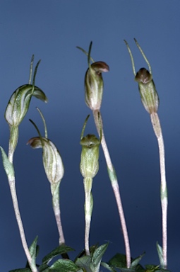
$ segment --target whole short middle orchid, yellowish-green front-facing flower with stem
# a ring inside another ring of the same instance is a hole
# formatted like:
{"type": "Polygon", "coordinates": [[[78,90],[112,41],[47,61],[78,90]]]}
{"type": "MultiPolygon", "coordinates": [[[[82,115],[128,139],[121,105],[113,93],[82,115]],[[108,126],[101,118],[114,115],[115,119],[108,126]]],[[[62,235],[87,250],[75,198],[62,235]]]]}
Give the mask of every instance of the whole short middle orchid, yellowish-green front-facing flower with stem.
{"type": "MultiPolygon", "coordinates": [[[[83,176],[85,190],[85,254],[90,256],[89,236],[90,222],[92,217],[93,198],[92,198],[92,180],[99,170],[99,149],[100,140],[95,135],[88,134],[84,136],[86,123],[90,115],[85,119],[83,130],[80,136],[80,145],[82,152],[80,156],[80,172],[83,176]]],[[[100,120],[100,118],[99,118],[100,120]]],[[[101,126],[101,125],[100,125],[101,126]]]]}

